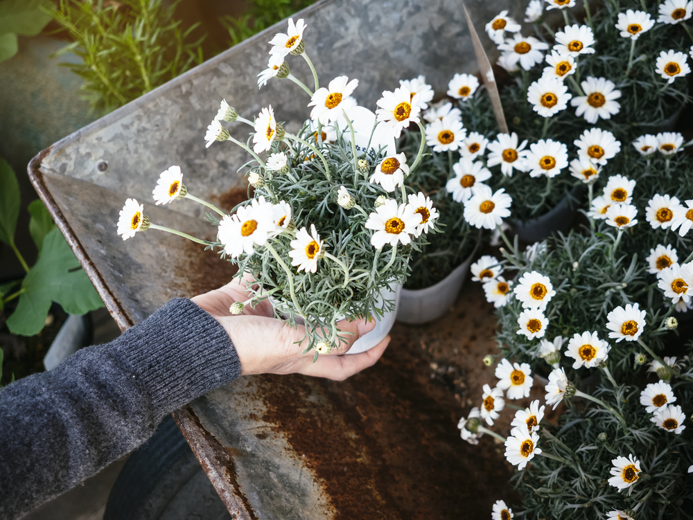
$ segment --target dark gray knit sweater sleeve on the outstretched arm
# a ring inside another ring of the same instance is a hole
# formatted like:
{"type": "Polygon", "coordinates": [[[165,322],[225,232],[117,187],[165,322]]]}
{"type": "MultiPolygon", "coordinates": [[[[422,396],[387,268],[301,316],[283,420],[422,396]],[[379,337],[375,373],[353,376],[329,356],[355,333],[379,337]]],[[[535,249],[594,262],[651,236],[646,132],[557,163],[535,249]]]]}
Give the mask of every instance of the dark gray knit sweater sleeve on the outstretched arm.
{"type": "Polygon", "coordinates": [[[98,473],[166,414],[240,376],[229,335],[175,298],[105,345],[0,391],[0,519],[98,473]]]}

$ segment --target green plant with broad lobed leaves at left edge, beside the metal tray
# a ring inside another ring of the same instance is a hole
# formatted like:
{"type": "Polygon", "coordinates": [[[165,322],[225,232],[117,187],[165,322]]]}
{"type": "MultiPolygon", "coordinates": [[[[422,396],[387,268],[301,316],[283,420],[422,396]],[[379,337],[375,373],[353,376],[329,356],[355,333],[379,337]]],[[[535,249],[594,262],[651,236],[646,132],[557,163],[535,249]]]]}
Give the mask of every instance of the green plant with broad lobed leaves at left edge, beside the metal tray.
{"type": "Polygon", "coordinates": [[[15,172],[0,159],[0,240],[12,248],[26,271],[19,289],[19,281],[0,285],[0,312],[8,302],[19,298],[17,308],[7,319],[8,328],[13,334],[32,336],[44,328],[54,301],[69,314],[85,314],[102,307],[103,303],[38,199],[28,207],[31,214],[28,231],[39,250],[39,257],[33,267],[28,267],[15,245],[19,200],[15,172]]]}

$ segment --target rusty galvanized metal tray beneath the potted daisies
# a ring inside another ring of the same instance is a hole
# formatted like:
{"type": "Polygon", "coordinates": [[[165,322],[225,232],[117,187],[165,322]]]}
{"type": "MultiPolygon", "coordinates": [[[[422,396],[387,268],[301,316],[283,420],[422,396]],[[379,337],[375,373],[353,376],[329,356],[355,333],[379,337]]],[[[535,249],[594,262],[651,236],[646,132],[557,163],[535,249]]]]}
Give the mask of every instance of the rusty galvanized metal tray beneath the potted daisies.
{"type": "MultiPolygon", "coordinates": [[[[479,28],[502,8],[522,18],[519,4],[502,0],[468,8],[479,28]]],[[[457,0],[323,0],[300,16],[322,82],[342,73],[358,78],[355,95],[365,106],[374,107],[380,92],[401,78],[423,73],[443,92],[454,72],[476,68],[457,0]]],[[[222,143],[205,149],[204,129],[221,98],[249,118],[272,103],[289,128],[306,118],[307,98],[290,82],[256,87],[266,42],[279,30],[285,25],[64,138],[30,163],[35,188],[122,330],[173,296],[193,296],[231,278],[227,262],[173,235],[148,232],[123,242],[116,222],[125,198],[135,197],[152,222],[213,235],[200,206],[155,206],[151,191],[159,172],[179,164],[193,195],[227,209],[243,199],[245,179],[236,170],[247,156],[222,143]]],[[[300,58],[290,64],[292,73],[309,77],[300,58]]],[[[247,136],[242,125],[234,132],[247,136]]],[[[416,339],[422,331],[448,334],[441,345],[453,349],[460,325],[446,319],[422,329],[396,325],[385,359],[348,382],[243,378],[175,418],[234,518],[487,514],[490,503],[480,496],[500,485],[493,479],[500,469],[482,468],[479,452],[461,446],[455,388],[430,379],[430,355],[416,339]]]]}

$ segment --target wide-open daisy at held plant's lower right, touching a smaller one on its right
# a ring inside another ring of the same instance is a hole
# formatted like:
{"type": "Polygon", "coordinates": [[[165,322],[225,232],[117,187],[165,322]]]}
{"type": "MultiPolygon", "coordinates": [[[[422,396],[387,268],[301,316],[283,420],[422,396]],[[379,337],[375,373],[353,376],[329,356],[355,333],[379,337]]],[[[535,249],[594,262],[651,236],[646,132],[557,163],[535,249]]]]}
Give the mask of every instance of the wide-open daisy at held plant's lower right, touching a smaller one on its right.
{"type": "Polygon", "coordinates": [[[416,236],[416,227],[421,224],[421,215],[414,213],[409,204],[397,206],[397,201],[387,199],[368,216],[365,228],[375,231],[371,237],[371,245],[383,249],[385,244],[396,246],[401,242],[406,246],[411,242],[410,235],[416,236]]]}

